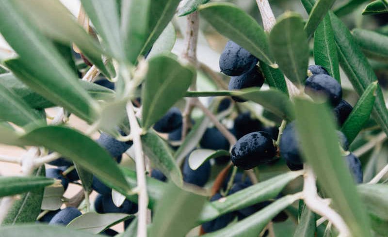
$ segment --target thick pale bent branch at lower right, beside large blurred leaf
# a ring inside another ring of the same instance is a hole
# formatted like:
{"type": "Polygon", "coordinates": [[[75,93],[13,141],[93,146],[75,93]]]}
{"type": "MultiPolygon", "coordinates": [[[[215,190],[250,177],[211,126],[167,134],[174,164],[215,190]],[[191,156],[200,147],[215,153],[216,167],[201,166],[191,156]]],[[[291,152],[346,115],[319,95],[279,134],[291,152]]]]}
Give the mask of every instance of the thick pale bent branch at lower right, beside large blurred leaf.
{"type": "Polygon", "coordinates": [[[328,206],[317,193],[315,175],[312,169],[305,165],[306,174],[304,175],[303,194],[306,206],[312,211],[318,213],[322,217],[333,223],[339,230],[340,236],[350,236],[350,231],[342,217],[331,207],[328,206]]]}

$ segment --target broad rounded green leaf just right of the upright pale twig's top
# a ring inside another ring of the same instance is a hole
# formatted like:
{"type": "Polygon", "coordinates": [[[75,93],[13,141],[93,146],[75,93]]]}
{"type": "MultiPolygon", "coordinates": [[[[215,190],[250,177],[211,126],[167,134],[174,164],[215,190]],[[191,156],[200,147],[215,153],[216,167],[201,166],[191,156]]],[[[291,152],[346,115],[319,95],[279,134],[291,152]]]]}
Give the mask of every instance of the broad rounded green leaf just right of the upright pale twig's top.
{"type": "Polygon", "coordinates": [[[183,66],[169,56],[162,55],[149,60],[142,91],[144,129],[162,118],[184,96],[194,76],[195,71],[191,66],[183,66]]]}

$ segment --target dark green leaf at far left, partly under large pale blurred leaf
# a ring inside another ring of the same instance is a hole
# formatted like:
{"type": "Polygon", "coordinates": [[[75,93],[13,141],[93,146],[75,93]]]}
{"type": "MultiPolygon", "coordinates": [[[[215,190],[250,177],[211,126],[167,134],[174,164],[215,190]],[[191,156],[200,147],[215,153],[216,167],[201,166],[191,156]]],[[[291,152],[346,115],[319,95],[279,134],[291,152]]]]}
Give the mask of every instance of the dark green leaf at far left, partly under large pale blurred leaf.
{"type": "MultiPolygon", "coordinates": [[[[48,46],[45,45],[45,47],[48,46]]],[[[42,61],[42,59],[43,56],[35,60],[42,61]]],[[[69,112],[86,121],[90,122],[96,119],[98,104],[81,88],[79,81],[71,78],[72,75],[61,76],[53,69],[54,67],[63,67],[65,62],[62,65],[58,63],[55,66],[52,65],[51,69],[46,69],[46,66],[50,64],[48,60],[43,60],[47,64],[42,65],[40,71],[38,71],[39,67],[31,63],[32,61],[25,62],[22,58],[6,60],[4,63],[24,84],[50,102],[65,107],[69,112]]],[[[54,61],[51,62],[54,63],[54,61]]],[[[60,71],[63,70],[60,69],[60,71]]]]}

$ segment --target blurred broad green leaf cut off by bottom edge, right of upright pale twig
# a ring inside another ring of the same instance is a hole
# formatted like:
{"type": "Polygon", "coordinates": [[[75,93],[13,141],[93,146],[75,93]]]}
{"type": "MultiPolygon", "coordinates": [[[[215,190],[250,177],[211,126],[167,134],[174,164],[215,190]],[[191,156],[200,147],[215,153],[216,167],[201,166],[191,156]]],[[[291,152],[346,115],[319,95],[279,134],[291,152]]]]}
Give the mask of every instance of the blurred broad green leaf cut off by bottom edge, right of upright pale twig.
{"type": "Polygon", "coordinates": [[[195,226],[205,201],[206,197],[183,191],[170,183],[156,206],[150,236],[186,236],[195,226]]]}

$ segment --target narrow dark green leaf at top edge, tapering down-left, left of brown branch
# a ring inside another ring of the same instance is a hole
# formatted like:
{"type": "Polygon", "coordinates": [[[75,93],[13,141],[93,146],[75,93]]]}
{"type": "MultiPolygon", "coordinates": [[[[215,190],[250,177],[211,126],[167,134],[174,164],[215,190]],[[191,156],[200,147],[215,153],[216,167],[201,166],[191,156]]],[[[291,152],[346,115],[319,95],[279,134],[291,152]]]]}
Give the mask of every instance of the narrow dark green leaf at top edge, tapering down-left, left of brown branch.
{"type": "Polygon", "coordinates": [[[158,0],[150,4],[150,14],[148,19],[148,37],[144,44],[141,55],[145,55],[159,38],[177,10],[180,0],[158,0]]]}

